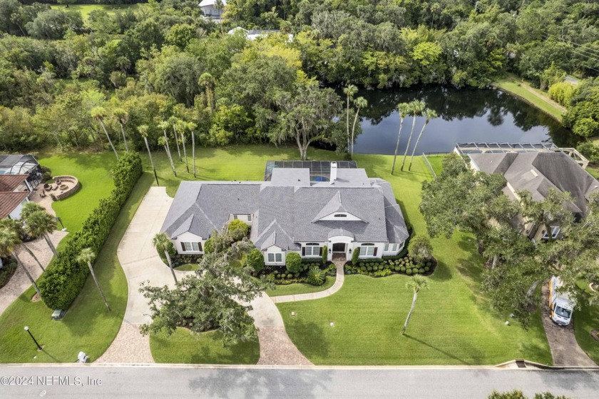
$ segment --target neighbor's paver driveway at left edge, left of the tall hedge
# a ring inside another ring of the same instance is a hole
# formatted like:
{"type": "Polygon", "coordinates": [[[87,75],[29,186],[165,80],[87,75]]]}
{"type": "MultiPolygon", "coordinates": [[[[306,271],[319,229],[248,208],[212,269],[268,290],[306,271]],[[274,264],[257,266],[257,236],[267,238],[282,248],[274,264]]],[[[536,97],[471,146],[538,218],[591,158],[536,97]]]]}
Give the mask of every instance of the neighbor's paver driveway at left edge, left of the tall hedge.
{"type": "MultiPolygon", "coordinates": [[[[50,235],[50,241],[54,244],[54,246],[58,246],[58,243],[66,236],[66,231],[54,231],[50,235]]],[[[36,257],[39,259],[40,263],[44,268],[48,266],[48,263],[53,258],[52,251],[46,240],[43,238],[37,238],[34,241],[30,241],[25,244],[31,252],[33,252],[36,257]]],[[[16,298],[19,298],[22,293],[24,293],[27,288],[31,287],[31,281],[25,274],[23,268],[25,267],[27,271],[31,274],[35,280],[41,276],[41,268],[34,260],[34,258],[29,255],[23,248],[19,248],[16,251],[16,255],[19,256],[23,265],[17,266],[14,275],[11,277],[10,281],[6,283],[6,286],[0,288],[0,314],[4,313],[4,310],[9,307],[11,303],[13,303],[16,298]]],[[[49,311],[49,310],[48,310],[49,311]]]]}

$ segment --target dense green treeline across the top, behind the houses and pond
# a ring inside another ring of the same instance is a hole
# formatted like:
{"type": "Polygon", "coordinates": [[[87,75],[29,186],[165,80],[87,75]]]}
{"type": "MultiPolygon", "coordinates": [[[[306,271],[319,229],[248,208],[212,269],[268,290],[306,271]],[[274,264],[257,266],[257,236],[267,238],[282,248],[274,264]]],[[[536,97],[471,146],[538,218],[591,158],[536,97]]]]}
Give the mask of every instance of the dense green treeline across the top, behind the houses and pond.
{"type": "Polygon", "coordinates": [[[103,148],[102,122],[138,149],[148,126],[154,148],[179,130],[202,145],[292,140],[303,156],[324,140],[343,151],[340,125],[356,107],[323,84],[484,87],[508,71],[551,86],[575,133],[599,134],[597,79],[563,83],[598,74],[595,1],[230,0],[225,11],[215,24],[198,1],[150,1],[83,21],[0,0],[0,148],[103,148]],[[235,26],[283,34],[249,41],[227,34],[235,26]]]}

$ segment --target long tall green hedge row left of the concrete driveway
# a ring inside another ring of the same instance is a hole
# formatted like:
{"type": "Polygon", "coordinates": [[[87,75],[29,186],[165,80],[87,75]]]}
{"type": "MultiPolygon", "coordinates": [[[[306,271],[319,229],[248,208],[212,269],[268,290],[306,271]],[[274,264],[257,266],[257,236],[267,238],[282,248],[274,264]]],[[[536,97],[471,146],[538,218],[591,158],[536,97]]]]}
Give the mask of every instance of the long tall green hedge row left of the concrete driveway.
{"type": "Polygon", "coordinates": [[[115,187],[111,195],[100,200],[39,280],[41,298],[48,308],[67,309],[77,298],[89,274],[88,266],[78,263],[77,256],[83,248],[100,251],[142,171],[138,153],[123,154],[118,160],[112,170],[115,187]]]}

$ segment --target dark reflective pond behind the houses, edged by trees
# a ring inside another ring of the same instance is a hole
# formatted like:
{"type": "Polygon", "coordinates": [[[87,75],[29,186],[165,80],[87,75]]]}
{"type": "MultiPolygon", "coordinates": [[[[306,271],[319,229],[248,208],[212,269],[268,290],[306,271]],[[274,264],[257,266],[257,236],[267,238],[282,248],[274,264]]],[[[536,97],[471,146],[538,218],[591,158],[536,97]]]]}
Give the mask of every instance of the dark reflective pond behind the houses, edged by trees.
{"type": "MultiPolygon", "coordinates": [[[[362,133],[354,153],[392,154],[395,150],[399,114],[397,104],[421,99],[439,117],[432,120],[416,153],[449,152],[456,143],[499,142],[541,143],[573,146],[572,133],[550,116],[510,94],[498,90],[454,89],[448,86],[419,86],[409,89],[361,90],[368,100],[361,112],[362,133]]],[[[399,153],[408,143],[412,118],[404,120],[399,153]]],[[[424,118],[416,118],[412,150],[424,118]]]]}

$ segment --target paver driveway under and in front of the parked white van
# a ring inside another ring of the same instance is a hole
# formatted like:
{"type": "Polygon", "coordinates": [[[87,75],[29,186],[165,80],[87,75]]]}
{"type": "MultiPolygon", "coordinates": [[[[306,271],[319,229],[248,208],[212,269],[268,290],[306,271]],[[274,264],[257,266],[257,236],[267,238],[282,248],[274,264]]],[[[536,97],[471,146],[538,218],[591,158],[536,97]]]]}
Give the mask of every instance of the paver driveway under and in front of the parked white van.
{"type": "Polygon", "coordinates": [[[574,318],[570,325],[562,327],[553,323],[550,318],[549,303],[546,298],[549,298],[549,284],[543,284],[543,308],[541,308],[541,319],[543,327],[551,349],[553,357],[553,365],[575,365],[575,366],[595,366],[593,360],[590,360],[588,355],[578,346],[574,336],[574,326],[576,323],[576,310],[574,310],[574,318]]]}

